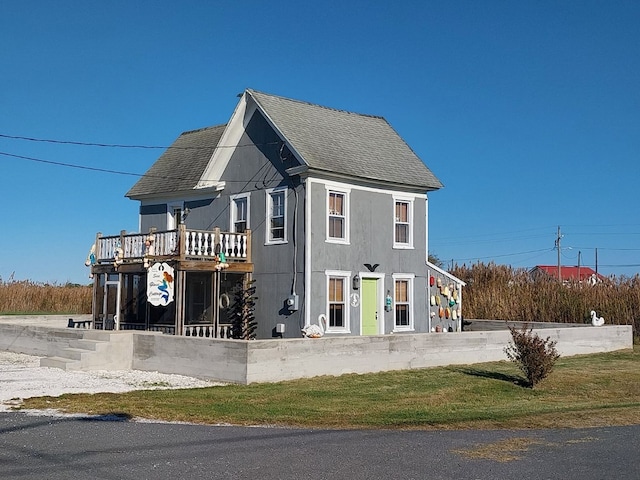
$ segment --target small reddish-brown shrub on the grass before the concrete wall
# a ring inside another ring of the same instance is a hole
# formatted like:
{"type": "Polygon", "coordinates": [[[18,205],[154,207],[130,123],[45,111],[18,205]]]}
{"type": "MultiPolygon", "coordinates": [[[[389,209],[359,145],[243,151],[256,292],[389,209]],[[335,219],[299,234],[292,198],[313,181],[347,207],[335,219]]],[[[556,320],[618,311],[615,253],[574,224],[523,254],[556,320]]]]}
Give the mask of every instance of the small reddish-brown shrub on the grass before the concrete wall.
{"type": "Polygon", "coordinates": [[[504,349],[507,358],[520,367],[529,386],[534,388],[551,373],[560,358],[557,342],[550,337],[540,338],[527,323],[520,329],[509,327],[509,331],[513,342],[504,349]]]}

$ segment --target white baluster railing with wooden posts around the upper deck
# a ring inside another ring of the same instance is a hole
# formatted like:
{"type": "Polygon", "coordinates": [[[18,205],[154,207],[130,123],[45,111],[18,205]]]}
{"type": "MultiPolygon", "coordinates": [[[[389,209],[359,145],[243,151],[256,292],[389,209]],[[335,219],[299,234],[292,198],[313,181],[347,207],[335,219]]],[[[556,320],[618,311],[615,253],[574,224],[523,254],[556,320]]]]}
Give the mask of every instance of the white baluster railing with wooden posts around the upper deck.
{"type": "Polygon", "coordinates": [[[220,260],[251,262],[251,231],[243,233],[188,229],[97,235],[96,263],[133,263],[144,259],[220,260]]]}

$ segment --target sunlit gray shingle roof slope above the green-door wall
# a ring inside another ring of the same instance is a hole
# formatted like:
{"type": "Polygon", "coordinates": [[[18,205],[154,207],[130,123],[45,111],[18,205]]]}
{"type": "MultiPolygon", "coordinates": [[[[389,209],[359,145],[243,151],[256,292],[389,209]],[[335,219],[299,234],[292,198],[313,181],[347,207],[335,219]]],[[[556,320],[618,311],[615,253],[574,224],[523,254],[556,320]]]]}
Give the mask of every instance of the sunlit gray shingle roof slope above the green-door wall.
{"type": "Polygon", "coordinates": [[[311,169],[390,185],[443,185],[382,117],[247,90],[311,169]]]}

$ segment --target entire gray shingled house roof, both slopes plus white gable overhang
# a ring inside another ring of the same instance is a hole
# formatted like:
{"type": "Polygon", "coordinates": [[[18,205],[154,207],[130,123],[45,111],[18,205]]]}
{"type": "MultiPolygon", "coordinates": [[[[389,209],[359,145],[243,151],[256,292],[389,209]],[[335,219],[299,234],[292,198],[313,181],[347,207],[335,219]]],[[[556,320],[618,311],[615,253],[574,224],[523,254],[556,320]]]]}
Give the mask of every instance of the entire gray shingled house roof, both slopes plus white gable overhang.
{"type": "Polygon", "coordinates": [[[417,192],[442,187],[384,118],[247,89],[226,125],[184,132],[126,196],[220,188],[234,147],[257,112],[297,159],[291,174],[308,171],[417,192]]]}

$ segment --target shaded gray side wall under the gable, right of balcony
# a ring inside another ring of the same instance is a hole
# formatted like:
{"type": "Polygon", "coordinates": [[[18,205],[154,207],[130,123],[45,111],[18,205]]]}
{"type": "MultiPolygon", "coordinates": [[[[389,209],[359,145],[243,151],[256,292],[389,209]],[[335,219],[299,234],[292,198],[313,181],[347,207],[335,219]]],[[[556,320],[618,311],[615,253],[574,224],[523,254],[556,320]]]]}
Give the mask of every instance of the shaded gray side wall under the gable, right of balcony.
{"type": "MultiPolygon", "coordinates": [[[[249,228],[251,229],[251,259],[254,264],[256,286],[256,319],[258,338],[272,338],[278,323],[285,324],[284,338],[300,337],[304,325],[304,185],[298,178],[290,178],[285,173],[286,160],[280,157],[282,140],[266,120],[259,114],[253,115],[246,126],[246,132],[231,156],[221,178],[225,182],[220,201],[227,205],[222,215],[225,226],[229,223],[229,203],[231,195],[249,194],[249,228]],[[286,198],[286,243],[269,244],[267,231],[267,189],[283,188],[286,198]],[[295,191],[294,191],[295,190],[295,191]],[[296,201],[296,193],[298,199],[296,201]],[[296,228],[294,234],[293,229],[296,228]],[[294,252],[297,250],[297,264],[294,252]],[[287,297],[295,293],[299,296],[299,309],[285,308],[287,297]]],[[[215,203],[215,202],[214,202],[215,203]]]]}

